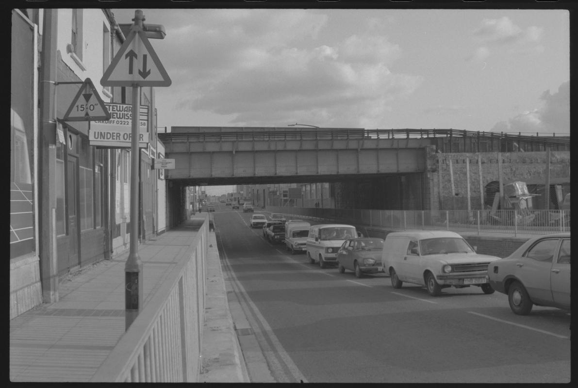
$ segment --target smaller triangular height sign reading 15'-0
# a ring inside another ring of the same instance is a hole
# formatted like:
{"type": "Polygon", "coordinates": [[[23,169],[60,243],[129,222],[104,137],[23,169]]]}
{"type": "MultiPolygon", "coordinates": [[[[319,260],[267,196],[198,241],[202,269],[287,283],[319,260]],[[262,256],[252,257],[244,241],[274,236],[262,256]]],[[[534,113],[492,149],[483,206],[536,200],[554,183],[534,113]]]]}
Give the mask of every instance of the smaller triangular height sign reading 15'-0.
{"type": "Polygon", "coordinates": [[[110,120],[110,112],[90,78],[87,78],[66,111],[64,121],[92,120],[110,120]]]}

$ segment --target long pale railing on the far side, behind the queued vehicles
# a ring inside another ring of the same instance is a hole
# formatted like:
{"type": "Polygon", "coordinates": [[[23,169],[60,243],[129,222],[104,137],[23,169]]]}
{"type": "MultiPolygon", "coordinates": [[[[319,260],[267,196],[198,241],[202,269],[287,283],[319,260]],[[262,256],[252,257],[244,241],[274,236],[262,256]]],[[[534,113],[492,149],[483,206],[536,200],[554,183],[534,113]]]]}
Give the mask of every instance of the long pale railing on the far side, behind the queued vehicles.
{"type": "Polygon", "coordinates": [[[454,232],[546,234],[570,232],[569,210],[365,210],[272,207],[267,210],[392,230],[444,229],[454,232]]]}

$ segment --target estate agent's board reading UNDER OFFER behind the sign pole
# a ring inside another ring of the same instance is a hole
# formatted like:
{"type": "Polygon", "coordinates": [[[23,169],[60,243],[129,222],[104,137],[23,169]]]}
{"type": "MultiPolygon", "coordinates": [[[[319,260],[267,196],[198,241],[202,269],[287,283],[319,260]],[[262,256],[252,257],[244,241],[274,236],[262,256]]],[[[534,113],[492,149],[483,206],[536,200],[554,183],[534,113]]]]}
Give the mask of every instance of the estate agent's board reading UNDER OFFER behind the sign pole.
{"type": "MultiPolygon", "coordinates": [[[[88,140],[91,146],[131,148],[132,105],[105,102],[110,120],[91,121],[88,140]]],[[[149,107],[140,106],[139,148],[149,144],[149,107]]]]}

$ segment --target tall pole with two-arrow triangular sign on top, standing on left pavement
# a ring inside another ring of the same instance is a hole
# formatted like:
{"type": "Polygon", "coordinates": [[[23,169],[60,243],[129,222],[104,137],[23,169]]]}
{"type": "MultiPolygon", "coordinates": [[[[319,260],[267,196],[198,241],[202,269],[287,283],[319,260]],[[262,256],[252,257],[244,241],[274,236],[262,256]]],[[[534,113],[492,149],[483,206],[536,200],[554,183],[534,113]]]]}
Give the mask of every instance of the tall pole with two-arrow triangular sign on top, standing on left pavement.
{"type": "MultiPolygon", "coordinates": [[[[131,245],[125,271],[125,330],[143,303],[143,264],[139,257],[139,106],[140,88],[169,86],[171,79],[143,31],[142,10],[135,10],[131,32],[101,79],[102,86],[132,87],[131,126],[131,245]]],[[[108,119],[107,119],[108,120],[108,119]]]]}

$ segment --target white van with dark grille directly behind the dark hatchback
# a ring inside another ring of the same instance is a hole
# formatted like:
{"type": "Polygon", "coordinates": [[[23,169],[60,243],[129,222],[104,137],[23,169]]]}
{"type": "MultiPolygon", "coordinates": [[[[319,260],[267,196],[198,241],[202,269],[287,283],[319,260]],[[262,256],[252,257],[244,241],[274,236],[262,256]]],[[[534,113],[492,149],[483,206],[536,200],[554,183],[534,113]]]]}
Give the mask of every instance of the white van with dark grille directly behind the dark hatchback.
{"type": "Polygon", "coordinates": [[[337,251],[347,238],[360,237],[355,226],[340,223],[321,223],[309,228],[307,257],[311,264],[319,262],[321,268],[337,264],[337,251]]]}

